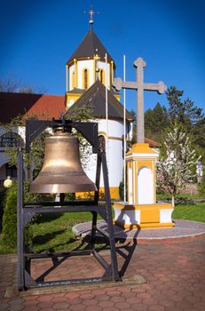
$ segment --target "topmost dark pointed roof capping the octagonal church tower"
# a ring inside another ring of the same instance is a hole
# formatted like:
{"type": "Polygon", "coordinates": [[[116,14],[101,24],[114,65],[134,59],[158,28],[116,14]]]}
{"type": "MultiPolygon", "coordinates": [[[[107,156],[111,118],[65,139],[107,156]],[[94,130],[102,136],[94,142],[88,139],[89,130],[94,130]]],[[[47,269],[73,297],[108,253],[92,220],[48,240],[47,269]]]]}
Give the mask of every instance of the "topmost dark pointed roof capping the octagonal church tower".
{"type": "MultiPolygon", "coordinates": [[[[107,60],[113,60],[111,55],[106,51],[105,46],[99,41],[99,37],[95,34],[92,28],[89,29],[82,43],[76,48],[75,52],[67,60],[69,65],[74,59],[85,59],[98,54],[104,58],[107,55],[107,60]]],[[[113,60],[114,61],[114,60],[113,60]]]]}

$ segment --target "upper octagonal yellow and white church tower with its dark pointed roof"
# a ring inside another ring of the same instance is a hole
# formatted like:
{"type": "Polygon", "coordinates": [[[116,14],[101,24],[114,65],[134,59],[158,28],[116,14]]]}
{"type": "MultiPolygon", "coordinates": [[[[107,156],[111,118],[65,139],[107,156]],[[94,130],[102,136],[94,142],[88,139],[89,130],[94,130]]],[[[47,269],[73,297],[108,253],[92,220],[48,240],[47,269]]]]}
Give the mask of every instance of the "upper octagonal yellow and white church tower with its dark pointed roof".
{"type": "MultiPolygon", "coordinates": [[[[82,43],[79,44],[75,52],[67,60],[67,108],[70,108],[97,80],[105,86],[107,83],[108,90],[111,90],[114,81],[114,71],[115,64],[113,58],[106,51],[105,46],[101,44],[99,37],[91,26],[82,43]]],[[[120,100],[120,94],[116,93],[115,97],[120,100]]]]}

